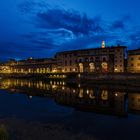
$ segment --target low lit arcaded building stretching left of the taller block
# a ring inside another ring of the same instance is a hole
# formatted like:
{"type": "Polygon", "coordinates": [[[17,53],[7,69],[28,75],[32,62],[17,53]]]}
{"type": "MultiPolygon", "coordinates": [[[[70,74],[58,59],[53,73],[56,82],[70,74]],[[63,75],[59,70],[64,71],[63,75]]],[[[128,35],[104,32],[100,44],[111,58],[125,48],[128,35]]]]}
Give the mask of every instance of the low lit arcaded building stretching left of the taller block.
{"type": "Polygon", "coordinates": [[[5,66],[1,66],[1,73],[21,73],[21,74],[45,74],[57,71],[55,59],[32,59],[10,60],[5,66]]]}

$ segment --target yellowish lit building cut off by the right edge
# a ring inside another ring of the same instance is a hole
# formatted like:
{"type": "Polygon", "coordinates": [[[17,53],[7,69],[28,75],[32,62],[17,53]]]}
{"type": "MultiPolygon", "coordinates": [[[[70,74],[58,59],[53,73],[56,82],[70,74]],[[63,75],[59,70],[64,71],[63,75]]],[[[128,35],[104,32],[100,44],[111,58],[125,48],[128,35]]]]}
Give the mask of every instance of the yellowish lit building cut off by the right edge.
{"type": "Polygon", "coordinates": [[[128,72],[140,72],[140,49],[128,51],[128,72]]]}

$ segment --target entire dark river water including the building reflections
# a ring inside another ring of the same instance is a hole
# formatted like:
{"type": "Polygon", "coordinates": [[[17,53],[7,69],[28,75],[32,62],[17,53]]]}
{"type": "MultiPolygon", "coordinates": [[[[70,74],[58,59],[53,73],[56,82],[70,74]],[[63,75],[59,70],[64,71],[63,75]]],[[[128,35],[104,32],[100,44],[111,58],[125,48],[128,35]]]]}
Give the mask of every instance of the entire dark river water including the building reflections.
{"type": "Polygon", "coordinates": [[[139,87],[0,81],[0,140],[135,140],[139,133],[139,87]]]}

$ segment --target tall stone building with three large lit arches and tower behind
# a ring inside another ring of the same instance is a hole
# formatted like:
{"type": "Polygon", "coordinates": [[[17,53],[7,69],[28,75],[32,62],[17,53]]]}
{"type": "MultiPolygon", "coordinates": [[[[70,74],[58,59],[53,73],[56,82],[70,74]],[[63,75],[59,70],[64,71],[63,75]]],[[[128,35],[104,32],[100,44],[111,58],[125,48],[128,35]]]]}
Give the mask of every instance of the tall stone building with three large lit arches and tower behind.
{"type": "Polygon", "coordinates": [[[124,46],[83,49],[56,54],[63,72],[124,72],[124,46]]]}

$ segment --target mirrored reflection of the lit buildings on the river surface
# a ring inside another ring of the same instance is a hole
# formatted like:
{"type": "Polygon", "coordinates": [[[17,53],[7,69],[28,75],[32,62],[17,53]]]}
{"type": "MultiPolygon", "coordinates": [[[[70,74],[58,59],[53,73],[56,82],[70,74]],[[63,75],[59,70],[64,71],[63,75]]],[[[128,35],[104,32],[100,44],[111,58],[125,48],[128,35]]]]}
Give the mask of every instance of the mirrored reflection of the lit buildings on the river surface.
{"type": "Polygon", "coordinates": [[[3,79],[0,89],[10,93],[24,93],[33,96],[48,96],[59,105],[76,110],[102,114],[127,116],[128,112],[140,113],[140,92],[110,86],[67,85],[64,81],[38,81],[25,79],[3,79]]]}

